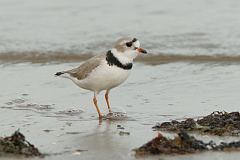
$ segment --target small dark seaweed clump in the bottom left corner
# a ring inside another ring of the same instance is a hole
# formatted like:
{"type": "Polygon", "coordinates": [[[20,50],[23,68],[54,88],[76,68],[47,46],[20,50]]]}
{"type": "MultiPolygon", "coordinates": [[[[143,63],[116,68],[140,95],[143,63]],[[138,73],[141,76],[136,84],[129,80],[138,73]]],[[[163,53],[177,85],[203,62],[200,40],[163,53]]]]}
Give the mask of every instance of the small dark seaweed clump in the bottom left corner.
{"type": "Polygon", "coordinates": [[[6,154],[43,157],[43,154],[34,145],[26,141],[25,136],[19,131],[15,131],[9,137],[0,137],[0,156],[6,154]]]}

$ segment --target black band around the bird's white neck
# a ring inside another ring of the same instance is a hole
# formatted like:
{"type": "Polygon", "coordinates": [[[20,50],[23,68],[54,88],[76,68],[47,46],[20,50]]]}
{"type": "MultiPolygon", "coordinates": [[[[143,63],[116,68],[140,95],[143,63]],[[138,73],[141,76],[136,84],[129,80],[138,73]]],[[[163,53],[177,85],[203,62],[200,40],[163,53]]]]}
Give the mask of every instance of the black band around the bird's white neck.
{"type": "Polygon", "coordinates": [[[107,52],[106,60],[109,66],[115,65],[119,68],[125,69],[125,70],[130,70],[132,69],[133,64],[132,63],[127,63],[127,64],[122,64],[117,57],[115,57],[111,50],[107,52]]]}

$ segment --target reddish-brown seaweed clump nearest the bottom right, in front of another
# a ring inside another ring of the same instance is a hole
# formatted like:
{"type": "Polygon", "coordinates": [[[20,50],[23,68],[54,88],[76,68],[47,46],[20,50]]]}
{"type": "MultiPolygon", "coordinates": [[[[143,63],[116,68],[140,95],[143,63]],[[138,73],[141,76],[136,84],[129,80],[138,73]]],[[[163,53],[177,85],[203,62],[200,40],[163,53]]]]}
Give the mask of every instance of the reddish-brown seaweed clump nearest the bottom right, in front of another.
{"type": "Polygon", "coordinates": [[[185,131],[180,131],[174,139],[168,139],[162,134],[135,149],[136,156],[147,154],[189,154],[203,151],[237,151],[240,150],[240,141],[231,143],[220,143],[216,145],[213,141],[204,143],[185,131]]]}

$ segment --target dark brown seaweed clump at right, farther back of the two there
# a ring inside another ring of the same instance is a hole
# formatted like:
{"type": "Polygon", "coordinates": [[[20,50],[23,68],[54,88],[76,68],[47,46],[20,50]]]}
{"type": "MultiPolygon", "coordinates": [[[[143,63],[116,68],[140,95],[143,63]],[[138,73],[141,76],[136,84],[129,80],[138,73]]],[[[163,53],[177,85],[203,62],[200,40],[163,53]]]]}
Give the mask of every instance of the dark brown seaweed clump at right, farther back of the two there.
{"type": "Polygon", "coordinates": [[[185,121],[163,122],[153,127],[156,130],[177,132],[197,131],[201,134],[218,136],[239,136],[240,135],[240,113],[239,112],[213,112],[201,119],[188,118],[185,121]]]}

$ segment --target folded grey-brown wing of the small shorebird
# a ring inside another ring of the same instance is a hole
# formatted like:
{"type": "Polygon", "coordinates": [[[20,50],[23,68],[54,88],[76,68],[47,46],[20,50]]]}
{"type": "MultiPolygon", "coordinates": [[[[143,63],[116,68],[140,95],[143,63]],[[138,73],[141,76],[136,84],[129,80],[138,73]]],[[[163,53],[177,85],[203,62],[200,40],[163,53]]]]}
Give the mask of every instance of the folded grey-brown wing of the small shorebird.
{"type": "Polygon", "coordinates": [[[65,71],[65,73],[82,80],[86,78],[95,68],[97,68],[105,58],[105,54],[94,56],[81,64],[78,68],[65,71]]]}

